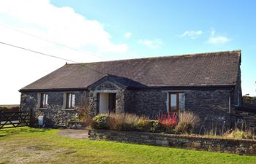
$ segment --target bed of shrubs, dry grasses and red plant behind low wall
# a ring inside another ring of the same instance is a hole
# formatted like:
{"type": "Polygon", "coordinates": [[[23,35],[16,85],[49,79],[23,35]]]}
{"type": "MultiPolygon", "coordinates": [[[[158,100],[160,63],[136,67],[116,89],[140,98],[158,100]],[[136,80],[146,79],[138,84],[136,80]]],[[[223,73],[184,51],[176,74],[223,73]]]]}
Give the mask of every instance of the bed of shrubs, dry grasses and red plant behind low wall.
{"type": "Polygon", "coordinates": [[[135,114],[99,114],[93,118],[92,128],[121,131],[192,133],[198,120],[191,112],[175,114],[160,114],[157,120],[148,117],[138,117],[135,114]],[[191,117],[192,119],[184,117],[191,117]]]}

